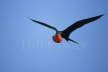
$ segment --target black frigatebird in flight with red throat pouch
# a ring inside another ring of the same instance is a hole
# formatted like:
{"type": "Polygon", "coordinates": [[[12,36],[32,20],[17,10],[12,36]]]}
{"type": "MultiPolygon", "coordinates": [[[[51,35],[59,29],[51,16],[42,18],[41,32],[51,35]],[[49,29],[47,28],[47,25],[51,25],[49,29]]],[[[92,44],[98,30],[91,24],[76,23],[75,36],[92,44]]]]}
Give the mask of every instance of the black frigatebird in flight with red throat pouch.
{"type": "Polygon", "coordinates": [[[66,41],[72,41],[73,43],[79,44],[78,42],[76,42],[76,41],[74,41],[74,40],[72,40],[72,39],[69,38],[70,34],[74,30],[76,30],[76,29],[84,26],[85,24],[88,24],[90,22],[93,22],[93,21],[97,20],[97,19],[101,18],[102,16],[103,15],[98,15],[98,16],[95,16],[95,17],[79,20],[79,21],[75,22],[74,24],[70,25],[69,27],[67,27],[63,31],[59,31],[55,27],[53,27],[51,25],[48,25],[46,23],[43,23],[43,22],[40,22],[40,21],[37,21],[37,20],[34,20],[34,19],[30,19],[30,20],[32,20],[35,23],[41,24],[43,26],[46,26],[46,27],[48,27],[48,28],[53,29],[54,31],[56,31],[56,34],[52,37],[53,41],[56,42],[56,43],[61,43],[62,40],[65,39],[66,41]]]}

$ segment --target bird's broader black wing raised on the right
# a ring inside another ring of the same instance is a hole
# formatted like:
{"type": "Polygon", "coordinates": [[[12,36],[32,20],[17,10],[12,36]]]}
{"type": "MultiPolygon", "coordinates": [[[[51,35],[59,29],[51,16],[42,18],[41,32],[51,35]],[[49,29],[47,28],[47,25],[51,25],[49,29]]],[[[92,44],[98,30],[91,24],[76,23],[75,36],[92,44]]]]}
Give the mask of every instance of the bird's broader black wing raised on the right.
{"type": "Polygon", "coordinates": [[[68,28],[66,28],[63,31],[63,37],[68,38],[70,33],[73,32],[74,30],[82,27],[85,24],[88,24],[89,22],[97,20],[97,19],[99,19],[102,16],[103,15],[99,15],[99,16],[95,16],[95,17],[91,17],[91,18],[88,18],[88,19],[83,19],[83,20],[77,21],[76,23],[74,23],[73,25],[69,26],[68,28]]]}

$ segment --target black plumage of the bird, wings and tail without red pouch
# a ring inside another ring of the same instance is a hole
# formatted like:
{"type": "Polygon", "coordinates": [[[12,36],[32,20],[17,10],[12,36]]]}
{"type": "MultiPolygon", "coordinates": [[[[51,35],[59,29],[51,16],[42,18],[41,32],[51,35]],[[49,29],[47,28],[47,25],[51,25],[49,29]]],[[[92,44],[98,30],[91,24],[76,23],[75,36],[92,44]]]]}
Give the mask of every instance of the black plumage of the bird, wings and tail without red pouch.
{"type": "Polygon", "coordinates": [[[88,23],[90,23],[90,22],[93,22],[93,21],[97,20],[97,19],[99,19],[99,18],[102,17],[102,16],[103,16],[103,15],[98,15],[98,16],[95,16],[95,17],[91,17],[91,18],[79,20],[79,21],[75,22],[74,24],[72,24],[71,26],[69,26],[68,28],[66,28],[66,29],[63,30],[63,31],[58,31],[55,27],[50,26],[50,25],[48,25],[48,24],[46,24],[46,23],[43,23],[43,22],[40,22],[40,21],[36,21],[36,20],[34,20],[34,19],[31,19],[31,20],[32,20],[33,22],[36,22],[36,23],[38,23],[38,24],[44,25],[44,26],[46,26],[46,27],[48,27],[48,28],[50,28],[50,29],[55,30],[55,31],[56,31],[56,34],[57,34],[57,33],[60,33],[60,34],[62,35],[62,37],[63,37],[66,41],[72,41],[72,42],[78,44],[78,42],[76,42],[76,41],[74,41],[74,40],[72,40],[72,39],[69,38],[70,34],[71,34],[74,30],[76,30],[76,29],[78,29],[78,28],[84,26],[85,24],[88,24],[88,23]]]}

